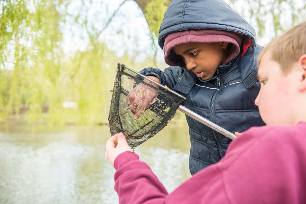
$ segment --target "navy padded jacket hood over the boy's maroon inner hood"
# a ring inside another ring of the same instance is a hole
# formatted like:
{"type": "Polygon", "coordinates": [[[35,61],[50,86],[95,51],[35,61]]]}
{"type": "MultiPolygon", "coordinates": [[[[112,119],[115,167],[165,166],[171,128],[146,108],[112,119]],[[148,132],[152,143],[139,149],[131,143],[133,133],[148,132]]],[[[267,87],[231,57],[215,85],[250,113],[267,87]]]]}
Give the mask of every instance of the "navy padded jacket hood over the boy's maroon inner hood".
{"type": "Polygon", "coordinates": [[[170,33],[194,29],[240,33],[256,45],[254,28],[222,0],[173,0],[159,28],[158,43],[163,49],[170,33]]]}

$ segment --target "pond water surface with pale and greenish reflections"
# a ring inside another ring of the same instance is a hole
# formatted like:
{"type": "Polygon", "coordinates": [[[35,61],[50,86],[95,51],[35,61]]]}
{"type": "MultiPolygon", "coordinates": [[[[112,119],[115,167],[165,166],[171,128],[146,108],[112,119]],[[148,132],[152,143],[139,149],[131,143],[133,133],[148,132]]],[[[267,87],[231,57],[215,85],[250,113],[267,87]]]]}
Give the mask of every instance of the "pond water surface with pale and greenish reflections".
{"type": "MultiPolygon", "coordinates": [[[[190,177],[188,128],[171,129],[135,150],[169,192],[190,177]]],[[[108,127],[2,129],[0,203],[118,203],[105,158],[109,136],[108,127]]]]}

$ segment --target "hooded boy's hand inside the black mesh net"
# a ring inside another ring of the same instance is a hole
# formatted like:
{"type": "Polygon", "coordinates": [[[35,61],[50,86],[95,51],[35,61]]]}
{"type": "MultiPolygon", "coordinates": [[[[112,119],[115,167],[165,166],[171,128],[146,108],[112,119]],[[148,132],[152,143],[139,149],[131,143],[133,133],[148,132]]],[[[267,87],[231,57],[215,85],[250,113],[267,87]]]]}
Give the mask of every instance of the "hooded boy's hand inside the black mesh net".
{"type": "MultiPolygon", "coordinates": [[[[159,82],[159,79],[155,76],[148,77],[159,82]]],[[[158,85],[150,82],[149,80],[145,79],[144,81],[146,83],[151,83],[155,87],[158,87],[158,85]]],[[[127,95],[126,105],[130,106],[135,120],[139,118],[140,115],[152,105],[152,103],[154,103],[154,99],[156,98],[157,94],[158,92],[153,88],[140,83],[127,95]],[[140,105],[140,108],[137,110],[138,105],[140,105]]]]}

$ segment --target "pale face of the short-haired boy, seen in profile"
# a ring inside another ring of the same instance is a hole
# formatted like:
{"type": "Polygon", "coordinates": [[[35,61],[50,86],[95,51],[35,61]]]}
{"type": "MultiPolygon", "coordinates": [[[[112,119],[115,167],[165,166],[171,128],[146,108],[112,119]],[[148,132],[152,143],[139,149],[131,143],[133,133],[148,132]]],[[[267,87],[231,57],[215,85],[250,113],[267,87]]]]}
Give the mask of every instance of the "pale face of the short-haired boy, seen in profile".
{"type": "Polygon", "coordinates": [[[301,72],[295,67],[284,75],[280,65],[272,60],[270,51],[263,55],[258,69],[260,91],[255,104],[267,125],[296,123],[295,102],[299,94],[300,77],[301,72]]]}

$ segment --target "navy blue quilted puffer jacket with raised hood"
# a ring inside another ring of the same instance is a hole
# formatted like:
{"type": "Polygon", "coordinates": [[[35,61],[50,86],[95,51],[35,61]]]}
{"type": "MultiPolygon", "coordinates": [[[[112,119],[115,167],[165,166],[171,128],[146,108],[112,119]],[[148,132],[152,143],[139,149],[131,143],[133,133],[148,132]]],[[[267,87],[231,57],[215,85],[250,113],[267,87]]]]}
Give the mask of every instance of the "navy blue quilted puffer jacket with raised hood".
{"type": "MultiPolygon", "coordinates": [[[[220,65],[215,75],[205,81],[181,67],[168,67],[163,72],[146,68],[141,73],[157,76],[162,84],[187,98],[186,108],[230,132],[264,125],[254,104],[259,92],[256,59],[263,49],[256,45],[254,28],[221,0],[174,0],[160,26],[159,46],[163,48],[168,34],[189,29],[243,34],[241,52],[228,64],[220,65]]],[[[231,140],[188,116],[186,119],[191,142],[189,169],[194,174],[218,162],[231,140]]]]}

